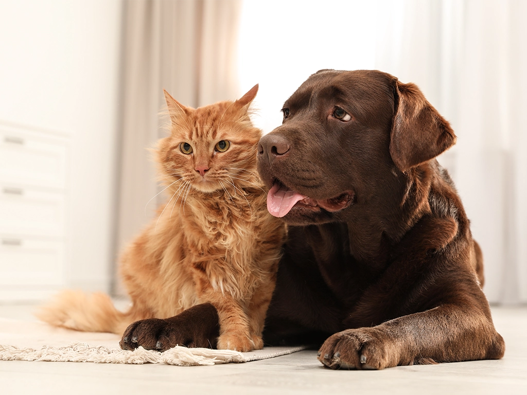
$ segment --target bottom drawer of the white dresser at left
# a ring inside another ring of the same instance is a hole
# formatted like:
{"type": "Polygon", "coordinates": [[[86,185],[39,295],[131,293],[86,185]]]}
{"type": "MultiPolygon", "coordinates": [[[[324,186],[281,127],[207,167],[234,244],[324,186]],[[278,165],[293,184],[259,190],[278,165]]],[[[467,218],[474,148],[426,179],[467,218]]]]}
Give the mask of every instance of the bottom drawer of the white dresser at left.
{"type": "Polygon", "coordinates": [[[0,284],[61,285],[65,243],[0,235],[0,284]]]}

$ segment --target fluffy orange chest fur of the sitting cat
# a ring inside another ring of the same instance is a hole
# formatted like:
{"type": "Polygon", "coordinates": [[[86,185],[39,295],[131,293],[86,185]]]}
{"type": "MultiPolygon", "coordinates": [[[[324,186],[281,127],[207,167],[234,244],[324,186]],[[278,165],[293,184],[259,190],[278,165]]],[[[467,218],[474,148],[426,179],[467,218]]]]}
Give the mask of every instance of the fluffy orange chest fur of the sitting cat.
{"type": "Polygon", "coordinates": [[[181,226],[189,266],[207,273],[214,289],[245,299],[270,270],[258,260],[259,230],[269,216],[262,191],[188,199],[181,226]]]}

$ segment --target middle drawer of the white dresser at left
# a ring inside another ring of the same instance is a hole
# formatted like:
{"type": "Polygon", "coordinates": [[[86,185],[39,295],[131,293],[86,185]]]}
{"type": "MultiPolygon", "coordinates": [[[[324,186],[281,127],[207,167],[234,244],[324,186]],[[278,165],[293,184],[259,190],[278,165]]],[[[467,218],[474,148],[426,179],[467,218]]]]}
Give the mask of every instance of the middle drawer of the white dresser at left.
{"type": "Polygon", "coordinates": [[[64,236],[65,197],[0,183],[0,234],[64,236]]]}

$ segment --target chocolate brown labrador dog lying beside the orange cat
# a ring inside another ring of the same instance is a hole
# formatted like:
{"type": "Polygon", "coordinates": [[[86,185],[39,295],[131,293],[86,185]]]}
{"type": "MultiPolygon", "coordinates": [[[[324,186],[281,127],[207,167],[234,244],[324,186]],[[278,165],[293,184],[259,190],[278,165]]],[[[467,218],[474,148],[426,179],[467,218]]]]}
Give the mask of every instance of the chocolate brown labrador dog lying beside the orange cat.
{"type": "MultiPolygon", "coordinates": [[[[282,112],[258,147],[269,212],[289,224],[265,341],[320,340],[334,369],[501,358],[481,250],[434,159],[456,137],[417,86],[322,70],[282,112]]],[[[218,333],[210,304],[145,321],[123,348],[203,347],[218,333]]]]}

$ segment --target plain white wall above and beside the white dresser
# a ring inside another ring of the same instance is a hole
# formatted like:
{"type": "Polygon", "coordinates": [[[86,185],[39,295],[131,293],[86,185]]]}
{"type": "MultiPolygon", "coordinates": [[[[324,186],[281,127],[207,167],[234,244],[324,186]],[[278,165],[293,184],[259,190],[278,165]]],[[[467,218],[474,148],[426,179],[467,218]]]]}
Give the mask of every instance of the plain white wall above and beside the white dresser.
{"type": "Polygon", "coordinates": [[[0,120],[70,135],[69,285],[108,290],[121,0],[0,0],[0,120]]]}

